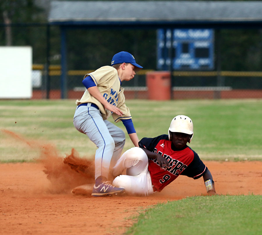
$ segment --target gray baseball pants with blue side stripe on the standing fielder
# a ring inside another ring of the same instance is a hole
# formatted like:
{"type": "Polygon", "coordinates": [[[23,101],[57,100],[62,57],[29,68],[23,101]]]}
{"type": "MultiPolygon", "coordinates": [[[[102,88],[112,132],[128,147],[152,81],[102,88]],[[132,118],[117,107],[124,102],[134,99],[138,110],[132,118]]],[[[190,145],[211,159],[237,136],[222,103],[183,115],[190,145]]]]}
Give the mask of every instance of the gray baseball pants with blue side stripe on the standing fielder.
{"type": "Polygon", "coordinates": [[[113,123],[103,120],[100,111],[91,103],[76,109],[73,123],[98,147],[95,152],[95,179],[99,176],[108,179],[109,169],[114,167],[123,150],[125,133],[113,123]]]}

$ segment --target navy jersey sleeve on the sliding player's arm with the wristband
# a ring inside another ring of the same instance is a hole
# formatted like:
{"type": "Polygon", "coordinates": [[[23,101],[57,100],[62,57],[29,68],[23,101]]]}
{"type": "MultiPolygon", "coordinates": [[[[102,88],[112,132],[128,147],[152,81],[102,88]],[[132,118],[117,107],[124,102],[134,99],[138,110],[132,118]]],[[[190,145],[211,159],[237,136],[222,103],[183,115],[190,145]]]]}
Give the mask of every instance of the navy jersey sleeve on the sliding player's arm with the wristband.
{"type": "Polygon", "coordinates": [[[189,164],[189,166],[187,166],[187,168],[181,173],[181,175],[188,176],[188,177],[191,177],[193,179],[198,179],[206,173],[208,168],[201,161],[198,154],[194,150],[192,150],[192,151],[194,152],[194,159],[189,164]]]}

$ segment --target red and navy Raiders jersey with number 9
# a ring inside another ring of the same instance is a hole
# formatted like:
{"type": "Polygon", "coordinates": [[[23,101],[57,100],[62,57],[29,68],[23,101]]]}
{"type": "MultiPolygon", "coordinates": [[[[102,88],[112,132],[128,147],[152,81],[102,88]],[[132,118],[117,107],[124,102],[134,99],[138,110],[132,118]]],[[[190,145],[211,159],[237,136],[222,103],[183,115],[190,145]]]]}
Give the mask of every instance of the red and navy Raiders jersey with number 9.
{"type": "Polygon", "coordinates": [[[179,175],[198,179],[208,169],[194,150],[187,145],[181,149],[177,149],[172,144],[172,141],[168,139],[168,135],[161,135],[155,138],[142,138],[139,141],[139,146],[140,148],[146,148],[151,152],[161,154],[169,162],[167,170],[162,170],[156,159],[148,159],[148,170],[152,185],[159,192],[179,175]]]}

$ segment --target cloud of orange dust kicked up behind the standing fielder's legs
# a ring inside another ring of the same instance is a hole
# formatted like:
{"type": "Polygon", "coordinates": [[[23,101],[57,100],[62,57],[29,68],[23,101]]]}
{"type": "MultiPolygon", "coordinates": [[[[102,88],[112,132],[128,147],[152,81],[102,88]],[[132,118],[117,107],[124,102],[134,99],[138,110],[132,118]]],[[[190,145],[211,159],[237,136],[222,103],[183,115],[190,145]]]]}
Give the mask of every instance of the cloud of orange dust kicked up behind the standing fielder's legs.
{"type": "Polygon", "coordinates": [[[82,174],[64,163],[64,157],[61,156],[54,145],[43,143],[43,141],[40,143],[39,141],[28,140],[6,129],[2,129],[1,131],[12,138],[22,141],[29,148],[39,150],[40,155],[36,157],[35,160],[43,166],[43,172],[50,181],[47,192],[52,194],[70,193],[73,188],[79,185],[94,183],[94,159],[88,160],[80,158],[75,149],[72,149],[70,155],[66,155],[74,159],[74,164],[76,165],[78,163],[80,165],[88,165],[89,172],[82,174]]]}

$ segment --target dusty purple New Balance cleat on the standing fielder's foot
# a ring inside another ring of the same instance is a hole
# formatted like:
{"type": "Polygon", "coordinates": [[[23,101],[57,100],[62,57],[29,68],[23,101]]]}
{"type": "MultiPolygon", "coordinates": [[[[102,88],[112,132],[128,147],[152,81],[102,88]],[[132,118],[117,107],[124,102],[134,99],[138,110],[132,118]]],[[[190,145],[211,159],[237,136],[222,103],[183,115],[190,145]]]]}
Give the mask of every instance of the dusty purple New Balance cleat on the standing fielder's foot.
{"type": "Polygon", "coordinates": [[[101,183],[98,186],[93,187],[92,196],[107,196],[112,194],[118,194],[124,192],[124,188],[118,188],[111,184],[110,181],[101,183]]]}

